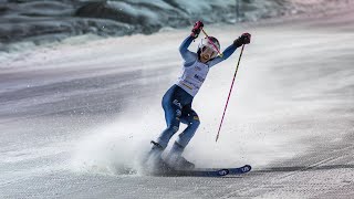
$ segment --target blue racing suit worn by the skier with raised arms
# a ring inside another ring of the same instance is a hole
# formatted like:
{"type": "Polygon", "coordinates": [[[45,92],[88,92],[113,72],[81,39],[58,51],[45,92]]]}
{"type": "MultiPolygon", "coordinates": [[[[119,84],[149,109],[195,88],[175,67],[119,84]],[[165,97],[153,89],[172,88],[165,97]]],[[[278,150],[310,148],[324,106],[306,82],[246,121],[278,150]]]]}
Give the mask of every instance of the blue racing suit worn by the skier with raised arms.
{"type": "MultiPolygon", "coordinates": [[[[173,153],[179,153],[179,154],[181,154],[184,148],[188,145],[189,140],[192,138],[192,136],[195,135],[200,124],[197,113],[191,108],[191,103],[192,103],[194,96],[198,92],[201,83],[204,82],[204,78],[206,77],[208,70],[211,66],[228,59],[237,49],[233,44],[231,44],[223,51],[222,57],[217,56],[214,60],[208,61],[207,63],[201,63],[199,61],[199,54],[190,52],[188,50],[188,46],[190,45],[192,40],[194,40],[192,36],[188,36],[187,39],[185,39],[185,41],[181,43],[179,48],[180,55],[185,61],[184,71],[188,70],[187,67],[191,67],[191,66],[195,66],[196,71],[198,71],[198,69],[202,66],[206,66],[207,69],[204,69],[204,71],[206,71],[204,74],[205,76],[200,77],[200,75],[197,75],[197,74],[189,75],[190,80],[196,77],[199,81],[201,81],[200,84],[195,85],[192,81],[188,81],[188,78],[184,78],[184,80],[180,80],[175,85],[173,85],[165,93],[162,104],[165,111],[165,119],[166,119],[167,128],[160,134],[160,136],[157,139],[157,144],[159,145],[159,147],[162,149],[165,149],[168,145],[169,139],[173,137],[173,135],[176,132],[178,132],[180,122],[184,124],[187,124],[188,127],[181,134],[178,135],[178,138],[176,139],[171,149],[173,153]],[[186,85],[188,83],[190,84],[186,85]],[[195,87],[192,87],[194,85],[195,87]],[[196,91],[191,91],[191,90],[196,90],[196,91]]],[[[188,74],[185,76],[188,77],[188,74]]]]}

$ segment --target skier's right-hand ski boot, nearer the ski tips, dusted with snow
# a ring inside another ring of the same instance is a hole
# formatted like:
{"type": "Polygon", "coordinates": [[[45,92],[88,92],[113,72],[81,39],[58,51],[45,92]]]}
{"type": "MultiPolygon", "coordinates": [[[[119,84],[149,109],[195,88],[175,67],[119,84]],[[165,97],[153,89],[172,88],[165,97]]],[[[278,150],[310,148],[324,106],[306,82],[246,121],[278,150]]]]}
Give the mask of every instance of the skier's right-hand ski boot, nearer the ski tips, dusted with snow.
{"type": "Polygon", "coordinates": [[[184,149],[185,148],[181,145],[175,142],[168,157],[166,158],[166,163],[169,167],[176,170],[192,170],[195,168],[195,164],[188,161],[181,156],[184,149]]]}

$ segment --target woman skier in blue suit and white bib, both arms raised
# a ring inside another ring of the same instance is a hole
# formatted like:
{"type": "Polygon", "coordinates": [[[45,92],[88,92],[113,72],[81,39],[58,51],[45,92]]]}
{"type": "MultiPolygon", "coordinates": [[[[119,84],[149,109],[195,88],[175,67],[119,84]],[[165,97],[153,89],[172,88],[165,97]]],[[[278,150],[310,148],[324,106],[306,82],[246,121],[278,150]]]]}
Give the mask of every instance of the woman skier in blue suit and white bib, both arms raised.
{"type": "Polygon", "coordinates": [[[191,41],[198,38],[202,28],[202,22],[197,21],[191,30],[191,34],[179,46],[180,55],[185,61],[183,73],[176,84],[166,92],[162,102],[167,128],[159,135],[156,142],[152,142],[153,148],[148,155],[148,158],[153,158],[155,166],[165,167],[167,164],[168,167],[175,169],[192,169],[195,167],[192,163],[189,163],[181,156],[200,124],[197,113],[191,108],[192,100],[206,80],[209,69],[228,59],[237,48],[249,44],[251,40],[251,34],[243,33],[223,51],[222,56],[219,56],[219,41],[214,36],[208,36],[201,40],[197,53],[190,52],[188,46],[191,41]],[[162,154],[167,147],[169,139],[178,132],[180,122],[187,124],[188,127],[178,135],[164,161],[162,154]]]}

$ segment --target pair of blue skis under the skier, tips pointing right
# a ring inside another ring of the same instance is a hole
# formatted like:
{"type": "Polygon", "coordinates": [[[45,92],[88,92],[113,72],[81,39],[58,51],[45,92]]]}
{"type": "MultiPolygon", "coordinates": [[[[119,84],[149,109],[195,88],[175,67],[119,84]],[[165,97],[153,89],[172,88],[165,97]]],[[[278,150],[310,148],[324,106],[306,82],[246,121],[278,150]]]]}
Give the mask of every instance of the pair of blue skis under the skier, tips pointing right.
{"type": "Polygon", "coordinates": [[[241,175],[249,172],[251,166],[244,165],[236,168],[196,168],[192,170],[175,170],[167,169],[162,172],[155,174],[157,176],[194,176],[194,177],[222,177],[227,175],[241,175]]]}

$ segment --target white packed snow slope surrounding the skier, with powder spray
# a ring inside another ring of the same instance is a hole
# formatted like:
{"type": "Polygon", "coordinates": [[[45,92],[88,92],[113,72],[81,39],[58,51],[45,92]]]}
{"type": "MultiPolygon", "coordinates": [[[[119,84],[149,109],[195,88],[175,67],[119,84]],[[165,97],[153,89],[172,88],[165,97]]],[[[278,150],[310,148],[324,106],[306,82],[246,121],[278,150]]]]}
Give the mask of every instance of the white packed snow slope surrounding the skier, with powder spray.
{"type": "Polygon", "coordinates": [[[198,167],[254,168],[227,178],[140,172],[165,127],[160,100],[189,29],[1,53],[0,198],[351,198],[353,11],[206,24],[221,49],[252,33],[218,143],[239,50],[211,69],[194,102],[201,125],[185,156],[198,167]]]}

